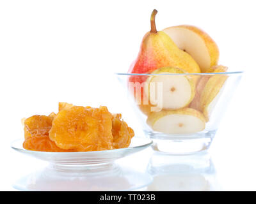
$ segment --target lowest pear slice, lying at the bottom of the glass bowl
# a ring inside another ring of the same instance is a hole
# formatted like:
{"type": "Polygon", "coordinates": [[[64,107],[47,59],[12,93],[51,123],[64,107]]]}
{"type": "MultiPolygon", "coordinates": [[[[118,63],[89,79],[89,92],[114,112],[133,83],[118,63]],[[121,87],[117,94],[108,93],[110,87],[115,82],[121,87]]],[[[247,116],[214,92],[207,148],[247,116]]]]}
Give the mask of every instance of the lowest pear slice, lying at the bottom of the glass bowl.
{"type": "Polygon", "coordinates": [[[161,133],[182,134],[196,133],[204,130],[204,115],[193,108],[163,110],[148,115],[147,124],[161,133]]]}

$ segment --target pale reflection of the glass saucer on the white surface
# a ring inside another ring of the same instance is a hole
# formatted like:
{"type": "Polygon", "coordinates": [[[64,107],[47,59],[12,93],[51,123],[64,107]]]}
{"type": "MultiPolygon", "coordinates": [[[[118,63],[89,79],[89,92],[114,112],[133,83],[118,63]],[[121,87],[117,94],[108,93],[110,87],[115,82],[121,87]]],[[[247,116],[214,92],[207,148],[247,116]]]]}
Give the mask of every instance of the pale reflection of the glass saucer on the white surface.
{"type": "Polygon", "coordinates": [[[84,171],[48,166],[23,177],[13,187],[22,191],[129,191],[150,182],[152,177],[148,173],[128,170],[117,164],[84,171]]]}

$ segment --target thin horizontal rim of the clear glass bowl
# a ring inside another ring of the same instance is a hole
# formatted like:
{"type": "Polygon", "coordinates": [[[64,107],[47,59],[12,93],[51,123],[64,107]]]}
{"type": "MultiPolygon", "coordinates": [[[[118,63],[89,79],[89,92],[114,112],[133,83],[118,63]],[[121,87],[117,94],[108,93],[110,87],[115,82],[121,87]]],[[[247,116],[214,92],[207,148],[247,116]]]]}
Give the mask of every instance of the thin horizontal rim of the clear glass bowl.
{"type": "Polygon", "coordinates": [[[211,73],[115,73],[116,75],[125,76],[161,76],[161,75],[239,75],[243,74],[244,71],[230,71],[230,72],[211,72],[211,73]]]}

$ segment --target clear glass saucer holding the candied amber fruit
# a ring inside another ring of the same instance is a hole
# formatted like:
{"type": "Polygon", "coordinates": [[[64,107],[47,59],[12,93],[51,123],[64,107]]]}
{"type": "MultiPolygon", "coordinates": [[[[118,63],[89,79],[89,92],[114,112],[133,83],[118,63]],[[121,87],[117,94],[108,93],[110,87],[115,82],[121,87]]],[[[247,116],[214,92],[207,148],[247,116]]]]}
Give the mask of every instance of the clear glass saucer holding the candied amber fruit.
{"type": "Polygon", "coordinates": [[[54,168],[63,171],[84,171],[92,168],[104,168],[104,165],[112,163],[116,159],[129,156],[152,145],[149,138],[134,137],[127,148],[94,151],[94,152],[40,152],[26,150],[22,147],[24,139],[15,140],[11,147],[20,153],[36,157],[51,163],[54,168]]]}

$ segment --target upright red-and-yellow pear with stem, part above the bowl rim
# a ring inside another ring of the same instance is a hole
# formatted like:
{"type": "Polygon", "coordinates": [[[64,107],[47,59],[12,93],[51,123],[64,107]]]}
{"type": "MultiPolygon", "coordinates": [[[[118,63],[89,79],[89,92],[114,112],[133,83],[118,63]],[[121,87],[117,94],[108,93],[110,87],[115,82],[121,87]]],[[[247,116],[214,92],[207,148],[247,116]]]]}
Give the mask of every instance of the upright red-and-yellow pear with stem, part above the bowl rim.
{"type": "Polygon", "coordinates": [[[152,11],[151,30],[143,37],[140,52],[129,73],[152,73],[165,66],[181,68],[188,73],[200,73],[198,64],[188,53],[180,50],[168,34],[156,30],[156,13],[157,10],[152,11]]]}

